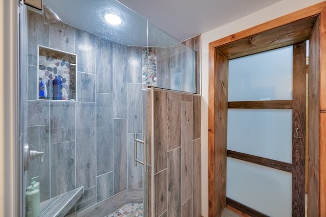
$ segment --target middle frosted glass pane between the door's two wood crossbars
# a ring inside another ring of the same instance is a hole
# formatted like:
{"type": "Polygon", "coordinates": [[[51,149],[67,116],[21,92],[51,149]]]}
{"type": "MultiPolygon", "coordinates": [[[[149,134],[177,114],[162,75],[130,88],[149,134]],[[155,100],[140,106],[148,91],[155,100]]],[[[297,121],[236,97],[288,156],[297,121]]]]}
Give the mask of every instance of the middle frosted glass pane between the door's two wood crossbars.
{"type": "Polygon", "coordinates": [[[229,108],[227,148],[292,164],[292,110],[229,108]]]}

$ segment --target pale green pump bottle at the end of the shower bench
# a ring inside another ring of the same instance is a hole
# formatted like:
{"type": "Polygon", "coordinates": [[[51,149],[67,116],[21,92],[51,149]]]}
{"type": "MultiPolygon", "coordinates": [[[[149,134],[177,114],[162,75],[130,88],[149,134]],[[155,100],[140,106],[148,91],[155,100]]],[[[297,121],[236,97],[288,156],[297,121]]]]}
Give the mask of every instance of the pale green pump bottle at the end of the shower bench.
{"type": "Polygon", "coordinates": [[[31,185],[26,188],[26,217],[37,217],[40,214],[40,183],[33,177],[31,185]]]}

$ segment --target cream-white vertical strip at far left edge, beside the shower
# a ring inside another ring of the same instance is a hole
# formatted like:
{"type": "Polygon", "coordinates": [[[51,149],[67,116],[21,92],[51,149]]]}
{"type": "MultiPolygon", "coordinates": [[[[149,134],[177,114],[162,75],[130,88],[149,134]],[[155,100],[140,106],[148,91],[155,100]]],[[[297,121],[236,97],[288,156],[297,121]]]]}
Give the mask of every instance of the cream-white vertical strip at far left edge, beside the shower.
{"type": "Polygon", "coordinates": [[[17,5],[0,0],[0,216],[19,216],[17,5]]]}

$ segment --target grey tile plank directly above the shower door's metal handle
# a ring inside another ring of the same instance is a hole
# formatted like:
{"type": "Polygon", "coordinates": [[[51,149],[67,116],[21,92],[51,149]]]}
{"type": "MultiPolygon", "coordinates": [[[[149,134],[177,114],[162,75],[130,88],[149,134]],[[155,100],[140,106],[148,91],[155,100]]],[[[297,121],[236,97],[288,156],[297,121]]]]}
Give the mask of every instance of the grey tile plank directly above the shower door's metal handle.
{"type": "Polygon", "coordinates": [[[142,84],[128,84],[128,132],[141,133],[143,124],[142,84]]]}

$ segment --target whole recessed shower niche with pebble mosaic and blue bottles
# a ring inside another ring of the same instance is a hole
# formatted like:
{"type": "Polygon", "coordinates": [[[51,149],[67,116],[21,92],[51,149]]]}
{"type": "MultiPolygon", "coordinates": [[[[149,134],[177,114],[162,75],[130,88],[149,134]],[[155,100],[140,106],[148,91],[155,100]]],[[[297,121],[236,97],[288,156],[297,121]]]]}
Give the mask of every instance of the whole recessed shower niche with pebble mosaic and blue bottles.
{"type": "Polygon", "coordinates": [[[39,100],[76,100],[77,56],[73,53],[38,46],[39,100]]]}

